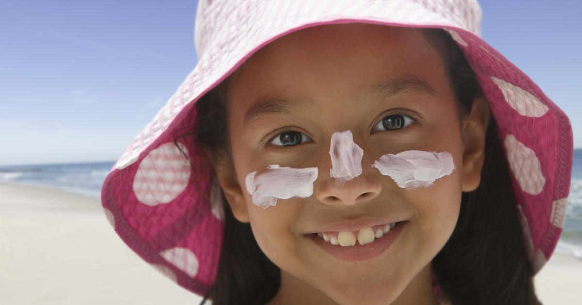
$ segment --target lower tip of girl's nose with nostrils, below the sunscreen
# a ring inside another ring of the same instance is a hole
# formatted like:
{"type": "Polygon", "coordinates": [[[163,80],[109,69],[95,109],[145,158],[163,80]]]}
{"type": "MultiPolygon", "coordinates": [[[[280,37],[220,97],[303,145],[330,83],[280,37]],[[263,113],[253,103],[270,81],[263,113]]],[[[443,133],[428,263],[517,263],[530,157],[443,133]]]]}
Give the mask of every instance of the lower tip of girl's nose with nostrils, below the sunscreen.
{"type": "Polygon", "coordinates": [[[375,199],[381,191],[380,179],[371,173],[363,173],[349,181],[329,178],[315,186],[315,196],[320,202],[348,206],[375,199]]]}

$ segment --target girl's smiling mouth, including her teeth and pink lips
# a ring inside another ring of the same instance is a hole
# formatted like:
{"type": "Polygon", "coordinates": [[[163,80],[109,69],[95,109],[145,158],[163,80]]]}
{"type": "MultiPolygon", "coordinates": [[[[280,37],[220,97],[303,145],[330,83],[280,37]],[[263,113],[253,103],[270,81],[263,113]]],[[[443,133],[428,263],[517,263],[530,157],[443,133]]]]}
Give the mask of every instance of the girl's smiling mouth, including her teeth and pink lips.
{"type": "Polygon", "coordinates": [[[346,261],[360,261],[379,256],[388,249],[408,221],[374,225],[359,231],[318,232],[306,235],[331,256],[346,261]]]}

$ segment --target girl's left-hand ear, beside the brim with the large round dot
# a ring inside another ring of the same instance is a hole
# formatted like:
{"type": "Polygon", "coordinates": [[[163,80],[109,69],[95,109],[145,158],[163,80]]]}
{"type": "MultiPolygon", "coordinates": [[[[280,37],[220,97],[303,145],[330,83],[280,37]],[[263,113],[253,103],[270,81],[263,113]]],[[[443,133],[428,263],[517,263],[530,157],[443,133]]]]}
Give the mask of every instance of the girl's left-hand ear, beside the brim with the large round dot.
{"type": "Polygon", "coordinates": [[[217,175],[218,184],[232,210],[232,214],[241,223],[249,222],[249,211],[244,200],[243,189],[236,178],[235,167],[222,154],[212,153],[206,150],[206,155],[217,175]]]}

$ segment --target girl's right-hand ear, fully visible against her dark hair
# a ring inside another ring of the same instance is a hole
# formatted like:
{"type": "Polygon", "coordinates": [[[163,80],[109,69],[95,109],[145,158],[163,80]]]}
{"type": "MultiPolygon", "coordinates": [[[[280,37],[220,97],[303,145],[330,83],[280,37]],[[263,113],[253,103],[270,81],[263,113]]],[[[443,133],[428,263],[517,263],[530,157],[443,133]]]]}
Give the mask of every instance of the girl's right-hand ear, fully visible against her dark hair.
{"type": "Polygon", "coordinates": [[[463,120],[463,192],[473,191],[481,182],[490,112],[487,98],[479,96],[473,101],[471,113],[463,120]]]}

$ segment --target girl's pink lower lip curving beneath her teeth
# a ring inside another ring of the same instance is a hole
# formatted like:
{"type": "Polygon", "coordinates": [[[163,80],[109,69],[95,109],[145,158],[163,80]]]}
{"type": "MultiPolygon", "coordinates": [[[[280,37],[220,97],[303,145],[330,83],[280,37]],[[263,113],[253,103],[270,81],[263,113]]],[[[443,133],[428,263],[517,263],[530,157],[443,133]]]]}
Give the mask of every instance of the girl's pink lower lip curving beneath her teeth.
{"type": "Polygon", "coordinates": [[[332,245],[329,242],[324,241],[317,234],[306,235],[315,245],[319,246],[325,252],[331,254],[340,260],[345,261],[361,261],[372,259],[382,254],[386,249],[388,249],[396,238],[400,235],[400,232],[404,229],[404,226],[408,224],[408,221],[401,221],[396,223],[392,229],[381,238],[376,238],[374,242],[367,243],[365,245],[359,245],[356,243],[354,246],[340,246],[332,245]]]}

